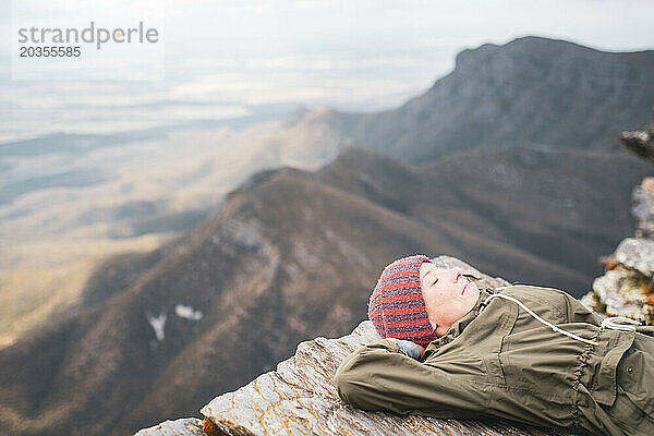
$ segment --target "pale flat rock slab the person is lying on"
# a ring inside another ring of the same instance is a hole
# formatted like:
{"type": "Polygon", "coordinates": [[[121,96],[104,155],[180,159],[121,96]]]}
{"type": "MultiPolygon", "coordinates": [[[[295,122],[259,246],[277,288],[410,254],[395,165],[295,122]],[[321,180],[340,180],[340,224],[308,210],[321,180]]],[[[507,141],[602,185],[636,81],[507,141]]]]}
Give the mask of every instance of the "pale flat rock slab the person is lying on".
{"type": "MultiPolygon", "coordinates": [[[[474,277],[480,287],[508,284],[504,279],[484,275],[470,265],[448,256],[434,259],[441,267],[458,266],[474,277]]],[[[379,340],[370,322],[351,335],[316,338],[302,342],[295,355],[263,374],[249,385],[216,397],[202,409],[207,435],[559,435],[518,426],[504,421],[456,421],[428,416],[398,416],[366,412],[344,404],[338,397],[334,375],[340,363],[365,343],[379,340]]],[[[166,422],[143,429],[137,436],[197,435],[197,422],[187,433],[179,432],[187,421],[166,422]],[[168,433],[167,433],[168,432],[168,433]]]]}

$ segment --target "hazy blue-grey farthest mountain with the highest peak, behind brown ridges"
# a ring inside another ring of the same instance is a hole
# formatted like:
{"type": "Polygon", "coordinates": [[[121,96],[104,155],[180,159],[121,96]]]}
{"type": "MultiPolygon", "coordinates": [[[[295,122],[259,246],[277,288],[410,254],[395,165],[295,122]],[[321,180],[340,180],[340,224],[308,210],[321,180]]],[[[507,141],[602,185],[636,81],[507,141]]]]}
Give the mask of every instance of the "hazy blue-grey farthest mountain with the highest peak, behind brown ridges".
{"type": "Polygon", "coordinates": [[[397,109],[327,111],[322,122],[412,164],[511,144],[617,149],[618,132],[651,122],[653,72],[651,50],[604,52],[529,36],[463,50],[450,74],[397,109]]]}

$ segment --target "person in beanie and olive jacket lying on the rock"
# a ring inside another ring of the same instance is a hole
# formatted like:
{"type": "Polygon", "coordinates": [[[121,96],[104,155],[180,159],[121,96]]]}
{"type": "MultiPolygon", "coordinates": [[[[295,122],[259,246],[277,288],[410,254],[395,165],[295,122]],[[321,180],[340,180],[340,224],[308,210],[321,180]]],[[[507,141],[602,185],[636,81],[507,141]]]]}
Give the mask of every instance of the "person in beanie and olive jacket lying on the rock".
{"type": "Polygon", "coordinates": [[[385,339],[336,374],[353,407],[654,435],[654,327],[603,320],[557,289],[480,290],[423,255],[384,269],[368,315],[385,339]]]}

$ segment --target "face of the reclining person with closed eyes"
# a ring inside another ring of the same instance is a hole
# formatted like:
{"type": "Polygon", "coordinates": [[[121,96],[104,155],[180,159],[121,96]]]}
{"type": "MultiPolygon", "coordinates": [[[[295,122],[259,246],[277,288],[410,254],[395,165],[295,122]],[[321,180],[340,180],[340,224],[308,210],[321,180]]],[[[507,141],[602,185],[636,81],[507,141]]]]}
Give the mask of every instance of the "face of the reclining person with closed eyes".
{"type": "Polygon", "coordinates": [[[461,272],[461,268],[440,269],[431,262],[420,267],[423,299],[437,337],[470,312],[480,296],[476,284],[461,272]]]}

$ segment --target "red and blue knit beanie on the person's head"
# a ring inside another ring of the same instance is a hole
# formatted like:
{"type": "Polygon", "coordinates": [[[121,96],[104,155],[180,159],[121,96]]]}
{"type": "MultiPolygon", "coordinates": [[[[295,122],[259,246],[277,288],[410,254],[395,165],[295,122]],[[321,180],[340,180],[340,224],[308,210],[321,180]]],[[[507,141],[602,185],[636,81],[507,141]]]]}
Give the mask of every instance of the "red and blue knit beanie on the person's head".
{"type": "Polygon", "coordinates": [[[384,268],[368,302],[368,317],[382,338],[426,346],[436,339],[420,286],[420,266],[427,256],[402,257],[384,268]]]}

